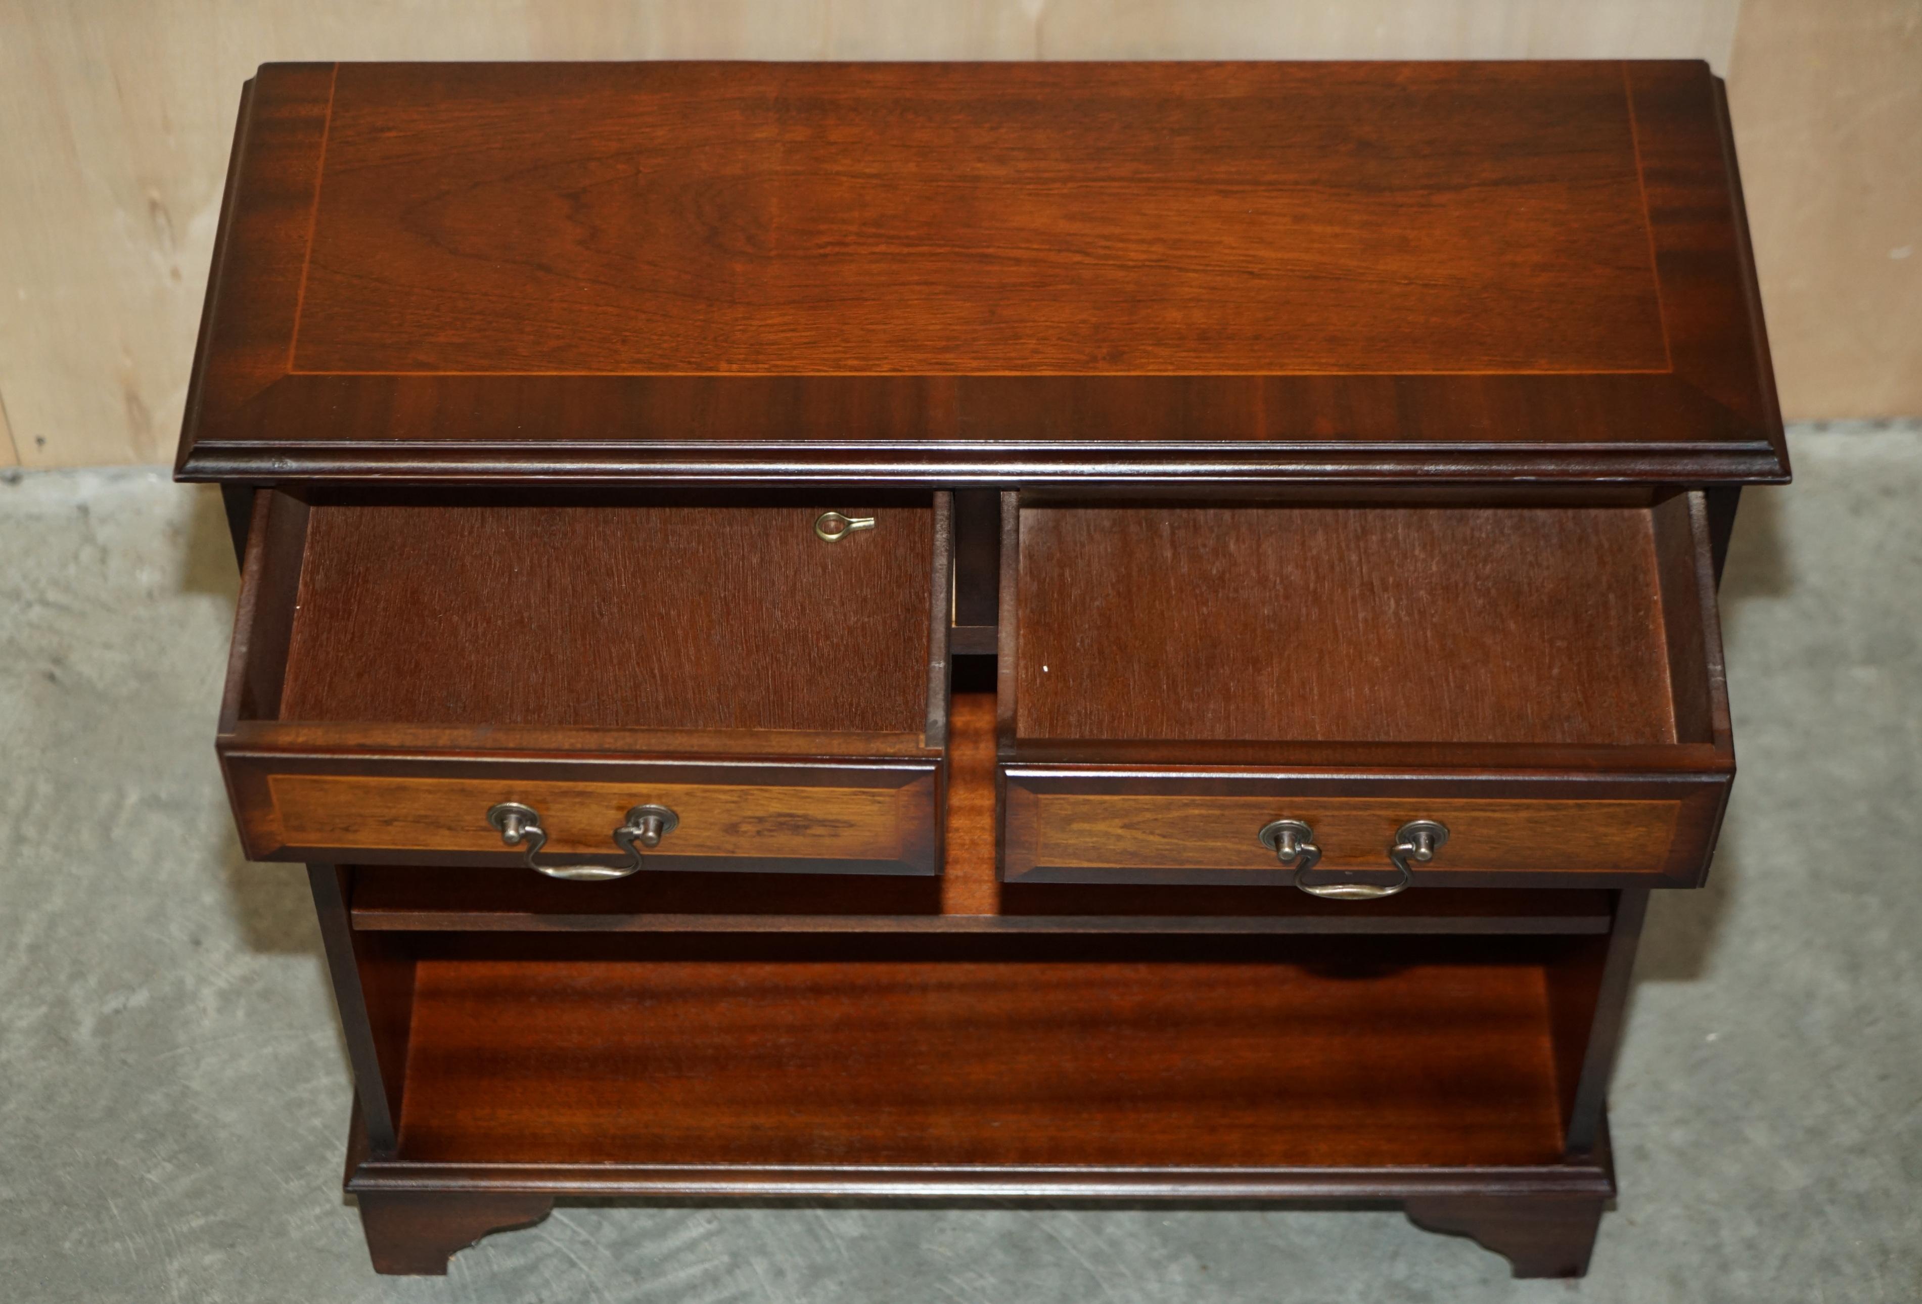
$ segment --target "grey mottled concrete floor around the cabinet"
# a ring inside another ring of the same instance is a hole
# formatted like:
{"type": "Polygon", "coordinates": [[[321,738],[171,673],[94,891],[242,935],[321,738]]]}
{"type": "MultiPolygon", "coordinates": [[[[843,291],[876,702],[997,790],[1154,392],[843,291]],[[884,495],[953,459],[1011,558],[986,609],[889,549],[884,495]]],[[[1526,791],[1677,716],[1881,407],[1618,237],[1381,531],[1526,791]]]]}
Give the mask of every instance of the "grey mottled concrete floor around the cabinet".
{"type": "Polygon", "coordinates": [[[1399,1214],[561,1208],[381,1279],[298,866],[213,764],[234,565],[158,472],[0,484],[0,1300],[1922,1298],[1922,426],[1803,428],[1722,590],[1741,778],[1661,893],[1586,1283],[1399,1214]]]}

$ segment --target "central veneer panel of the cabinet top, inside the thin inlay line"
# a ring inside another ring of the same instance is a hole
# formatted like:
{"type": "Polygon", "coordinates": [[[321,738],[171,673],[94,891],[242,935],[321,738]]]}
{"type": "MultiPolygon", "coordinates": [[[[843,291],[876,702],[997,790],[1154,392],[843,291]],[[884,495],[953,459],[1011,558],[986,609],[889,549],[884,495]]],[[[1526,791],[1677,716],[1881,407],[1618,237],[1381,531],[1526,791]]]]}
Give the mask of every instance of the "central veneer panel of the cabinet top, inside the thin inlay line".
{"type": "Polygon", "coordinates": [[[292,365],[1666,369],[1611,63],[346,63],[292,365]]]}

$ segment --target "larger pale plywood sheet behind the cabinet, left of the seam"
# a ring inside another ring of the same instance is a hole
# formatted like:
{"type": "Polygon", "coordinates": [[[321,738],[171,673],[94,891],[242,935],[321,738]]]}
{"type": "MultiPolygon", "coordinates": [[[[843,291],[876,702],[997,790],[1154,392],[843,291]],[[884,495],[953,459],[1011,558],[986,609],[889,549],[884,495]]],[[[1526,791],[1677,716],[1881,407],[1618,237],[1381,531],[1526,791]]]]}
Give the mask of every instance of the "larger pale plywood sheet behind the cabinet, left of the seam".
{"type": "Polygon", "coordinates": [[[0,0],[0,401],[29,467],[171,459],[240,83],[263,61],[1663,56],[1722,71],[1737,4],[0,0]]]}

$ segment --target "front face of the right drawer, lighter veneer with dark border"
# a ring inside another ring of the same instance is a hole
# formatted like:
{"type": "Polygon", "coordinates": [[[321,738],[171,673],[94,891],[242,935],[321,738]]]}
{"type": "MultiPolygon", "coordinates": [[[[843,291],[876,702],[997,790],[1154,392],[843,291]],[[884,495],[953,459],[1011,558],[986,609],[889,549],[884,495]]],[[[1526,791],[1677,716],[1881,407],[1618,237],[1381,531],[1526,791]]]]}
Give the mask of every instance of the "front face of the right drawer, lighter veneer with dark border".
{"type": "MultiPolygon", "coordinates": [[[[1259,784],[1259,782],[1257,782],[1259,784]]],[[[1315,880],[1392,881],[1395,832],[1438,820],[1449,837],[1415,866],[1432,885],[1695,885],[1720,824],[1726,782],[1609,784],[1570,797],[1568,784],[1509,782],[1540,795],[1480,795],[1474,784],[1395,784],[1338,795],[1328,784],[1207,791],[1207,780],[1036,774],[1005,784],[1003,878],[1055,883],[1288,883],[1261,843],[1270,820],[1301,820],[1320,847],[1315,880]],[[1465,791],[1466,789],[1466,791],[1465,791]]],[[[1349,787],[1368,787],[1367,782],[1349,787]]],[[[1597,784],[1586,784],[1593,789],[1597,784]]]]}

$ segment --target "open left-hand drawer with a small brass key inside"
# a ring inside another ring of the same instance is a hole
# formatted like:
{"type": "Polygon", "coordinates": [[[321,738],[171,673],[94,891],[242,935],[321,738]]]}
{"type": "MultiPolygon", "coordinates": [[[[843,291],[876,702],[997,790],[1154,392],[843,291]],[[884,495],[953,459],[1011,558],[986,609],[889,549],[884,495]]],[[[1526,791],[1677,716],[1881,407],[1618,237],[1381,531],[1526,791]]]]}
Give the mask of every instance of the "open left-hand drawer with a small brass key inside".
{"type": "Polygon", "coordinates": [[[946,494],[261,492],[219,737],[246,855],[940,874],[948,559],[946,494]]]}

